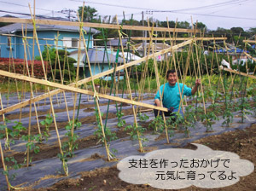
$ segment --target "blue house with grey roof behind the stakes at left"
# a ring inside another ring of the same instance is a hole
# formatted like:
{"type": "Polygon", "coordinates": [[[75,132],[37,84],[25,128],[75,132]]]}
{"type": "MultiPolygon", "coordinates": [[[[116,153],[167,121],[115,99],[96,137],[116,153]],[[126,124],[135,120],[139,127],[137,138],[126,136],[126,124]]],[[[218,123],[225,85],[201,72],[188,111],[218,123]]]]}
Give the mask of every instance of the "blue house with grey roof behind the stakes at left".
{"type": "MultiPolygon", "coordinates": [[[[9,58],[11,56],[16,59],[24,59],[21,25],[20,23],[15,23],[0,28],[0,57],[9,58]]],[[[23,24],[23,28],[24,32],[26,32],[26,37],[33,37],[33,26],[31,24],[23,24]]],[[[93,35],[99,33],[98,30],[90,29],[89,27],[84,27],[84,31],[87,32],[84,38],[88,39],[90,35],[90,40],[93,39],[93,35]]],[[[47,44],[55,47],[55,38],[58,39],[58,49],[67,47],[67,51],[71,52],[79,48],[79,26],[37,25],[37,34],[41,51],[44,50],[44,46],[47,44]]],[[[33,40],[27,38],[26,41],[29,44],[26,46],[26,54],[28,60],[32,60],[33,40]]],[[[84,43],[82,41],[81,48],[83,47],[84,43]]],[[[89,48],[92,47],[93,41],[90,41],[89,48]]],[[[34,55],[39,55],[37,43],[34,44],[34,55]]]]}

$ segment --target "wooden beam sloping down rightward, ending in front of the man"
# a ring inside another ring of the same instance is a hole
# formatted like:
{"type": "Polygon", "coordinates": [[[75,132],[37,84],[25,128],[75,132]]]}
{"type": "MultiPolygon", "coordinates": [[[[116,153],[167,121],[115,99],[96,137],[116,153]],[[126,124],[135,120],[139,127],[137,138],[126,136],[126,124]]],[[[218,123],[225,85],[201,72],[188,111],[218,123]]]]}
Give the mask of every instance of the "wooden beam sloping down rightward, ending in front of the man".
{"type": "Polygon", "coordinates": [[[156,106],[150,105],[148,103],[143,103],[143,102],[139,102],[139,101],[131,101],[131,100],[127,100],[127,99],[124,99],[124,98],[115,97],[115,96],[108,96],[108,95],[101,94],[101,93],[96,93],[95,94],[95,92],[90,91],[90,90],[83,90],[83,89],[71,87],[71,86],[68,86],[68,85],[53,83],[53,82],[46,81],[44,79],[31,78],[31,77],[27,77],[27,76],[24,76],[24,75],[21,75],[21,74],[17,74],[17,73],[13,73],[13,72],[6,72],[6,71],[3,71],[3,70],[0,70],[0,73],[1,73],[2,76],[5,76],[5,77],[15,78],[15,79],[19,79],[19,80],[23,80],[23,81],[27,81],[27,82],[36,83],[36,84],[42,84],[42,85],[46,85],[46,86],[49,86],[49,87],[58,88],[58,89],[61,89],[61,90],[73,91],[73,92],[77,92],[77,93],[81,93],[81,94],[85,94],[85,95],[102,97],[104,99],[108,99],[108,100],[112,100],[112,101],[119,101],[119,102],[124,102],[124,103],[131,104],[131,105],[136,105],[136,106],[141,106],[141,107],[148,107],[148,108],[152,108],[152,109],[158,109],[158,110],[163,111],[163,112],[168,111],[168,109],[165,108],[165,107],[156,107],[156,106]]]}

